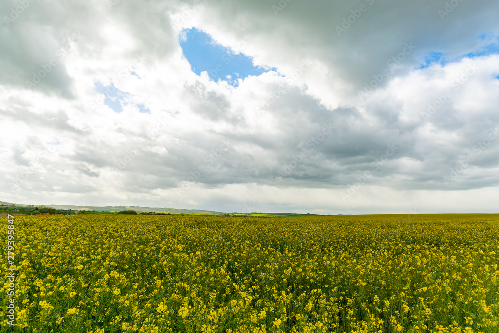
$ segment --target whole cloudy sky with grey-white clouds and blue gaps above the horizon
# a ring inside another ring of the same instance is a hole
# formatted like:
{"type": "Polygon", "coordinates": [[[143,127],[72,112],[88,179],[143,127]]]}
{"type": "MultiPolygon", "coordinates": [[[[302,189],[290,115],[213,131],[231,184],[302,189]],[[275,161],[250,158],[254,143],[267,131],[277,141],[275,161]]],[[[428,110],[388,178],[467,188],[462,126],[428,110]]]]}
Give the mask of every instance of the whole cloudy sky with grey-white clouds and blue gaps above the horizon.
{"type": "Polygon", "coordinates": [[[0,200],[498,212],[497,0],[2,0],[0,200]]]}

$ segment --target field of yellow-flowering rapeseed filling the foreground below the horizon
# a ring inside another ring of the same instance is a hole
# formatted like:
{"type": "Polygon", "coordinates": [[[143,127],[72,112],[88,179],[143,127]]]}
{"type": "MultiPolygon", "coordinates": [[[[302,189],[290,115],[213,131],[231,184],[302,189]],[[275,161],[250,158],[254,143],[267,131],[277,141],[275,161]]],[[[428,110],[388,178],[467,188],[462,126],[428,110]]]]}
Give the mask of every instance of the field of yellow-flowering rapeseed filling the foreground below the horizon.
{"type": "Polygon", "coordinates": [[[498,253],[497,214],[16,216],[0,332],[497,333],[498,253]]]}

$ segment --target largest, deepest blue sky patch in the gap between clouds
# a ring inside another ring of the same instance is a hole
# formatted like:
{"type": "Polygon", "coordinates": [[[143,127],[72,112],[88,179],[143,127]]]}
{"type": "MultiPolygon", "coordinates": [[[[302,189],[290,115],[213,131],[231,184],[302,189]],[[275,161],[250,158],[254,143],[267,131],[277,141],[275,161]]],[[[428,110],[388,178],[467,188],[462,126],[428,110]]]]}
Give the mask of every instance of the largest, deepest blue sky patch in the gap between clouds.
{"type": "MultiPolygon", "coordinates": [[[[197,75],[206,71],[215,82],[220,79],[237,86],[238,78],[244,79],[249,75],[260,75],[269,71],[253,66],[250,57],[242,53],[235,54],[230,48],[217,44],[210,35],[196,28],[185,29],[182,34],[185,34],[185,39],[180,38],[180,46],[191,64],[192,71],[197,75]]],[[[241,40],[238,51],[243,52],[246,46],[247,42],[241,40]]]]}

